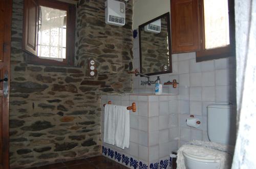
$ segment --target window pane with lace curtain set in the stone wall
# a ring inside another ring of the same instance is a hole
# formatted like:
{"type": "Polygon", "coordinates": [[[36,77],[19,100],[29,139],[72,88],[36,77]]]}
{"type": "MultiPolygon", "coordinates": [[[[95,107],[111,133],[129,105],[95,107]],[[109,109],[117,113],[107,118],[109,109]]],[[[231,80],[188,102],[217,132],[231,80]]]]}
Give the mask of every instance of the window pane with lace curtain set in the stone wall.
{"type": "Polygon", "coordinates": [[[40,6],[39,12],[38,57],[66,59],[67,11],[40,6]]]}

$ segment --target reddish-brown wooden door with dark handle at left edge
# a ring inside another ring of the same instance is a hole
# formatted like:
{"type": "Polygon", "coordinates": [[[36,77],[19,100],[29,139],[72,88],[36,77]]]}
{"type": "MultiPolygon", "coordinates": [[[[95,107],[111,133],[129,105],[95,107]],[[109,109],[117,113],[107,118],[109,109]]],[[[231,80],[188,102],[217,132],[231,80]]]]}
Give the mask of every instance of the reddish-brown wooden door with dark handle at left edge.
{"type": "Polygon", "coordinates": [[[0,169],[9,168],[9,89],[12,1],[0,1],[0,169]],[[5,79],[4,81],[2,81],[5,79]]]}

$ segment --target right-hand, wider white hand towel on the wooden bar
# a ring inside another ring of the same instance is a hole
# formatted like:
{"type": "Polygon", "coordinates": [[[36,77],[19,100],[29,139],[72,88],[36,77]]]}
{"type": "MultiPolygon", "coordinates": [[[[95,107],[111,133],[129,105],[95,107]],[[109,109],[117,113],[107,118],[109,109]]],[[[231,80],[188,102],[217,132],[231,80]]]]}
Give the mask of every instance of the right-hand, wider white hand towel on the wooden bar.
{"type": "Polygon", "coordinates": [[[130,115],[125,106],[116,106],[115,145],[121,149],[129,148],[130,143],[130,115]]]}

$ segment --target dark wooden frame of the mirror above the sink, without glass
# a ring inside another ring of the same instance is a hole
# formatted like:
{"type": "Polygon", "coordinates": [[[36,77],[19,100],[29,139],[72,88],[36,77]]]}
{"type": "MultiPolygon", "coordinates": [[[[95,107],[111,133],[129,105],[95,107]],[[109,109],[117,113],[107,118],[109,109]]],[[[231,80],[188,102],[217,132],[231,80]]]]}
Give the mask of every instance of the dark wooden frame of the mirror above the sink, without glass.
{"type": "Polygon", "coordinates": [[[158,16],[150,21],[147,21],[141,25],[139,25],[139,50],[140,50],[140,73],[146,74],[148,76],[151,75],[157,75],[157,74],[165,74],[165,73],[172,73],[173,72],[173,67],[172,67],[172,45],[171,45],[171,40],[170,40],[170,13],[167,12],[161,16],[158,16]],[[168,32],[168,49],[169,49],[169,70],[166,71],[161,71],[161,72],[153,72],[153,73],[143,73],[142,72],[142,51],[141,51],[141,29],[143,27],[151,22],[154,22],[158,19],[161,19],[162,17],[167,18],[167,32],[168,32]]]}

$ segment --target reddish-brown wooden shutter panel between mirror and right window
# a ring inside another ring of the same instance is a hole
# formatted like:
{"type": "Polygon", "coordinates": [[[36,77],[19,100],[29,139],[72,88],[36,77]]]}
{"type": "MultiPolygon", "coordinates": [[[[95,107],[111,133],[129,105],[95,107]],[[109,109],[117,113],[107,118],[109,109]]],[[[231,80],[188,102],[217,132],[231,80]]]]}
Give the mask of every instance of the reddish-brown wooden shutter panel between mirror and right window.
{"type": "Polygon", "coordinates": [[[172,53],[200,49],[200,21],[198,0],[172,0],[170,5],[172,53]]]}

